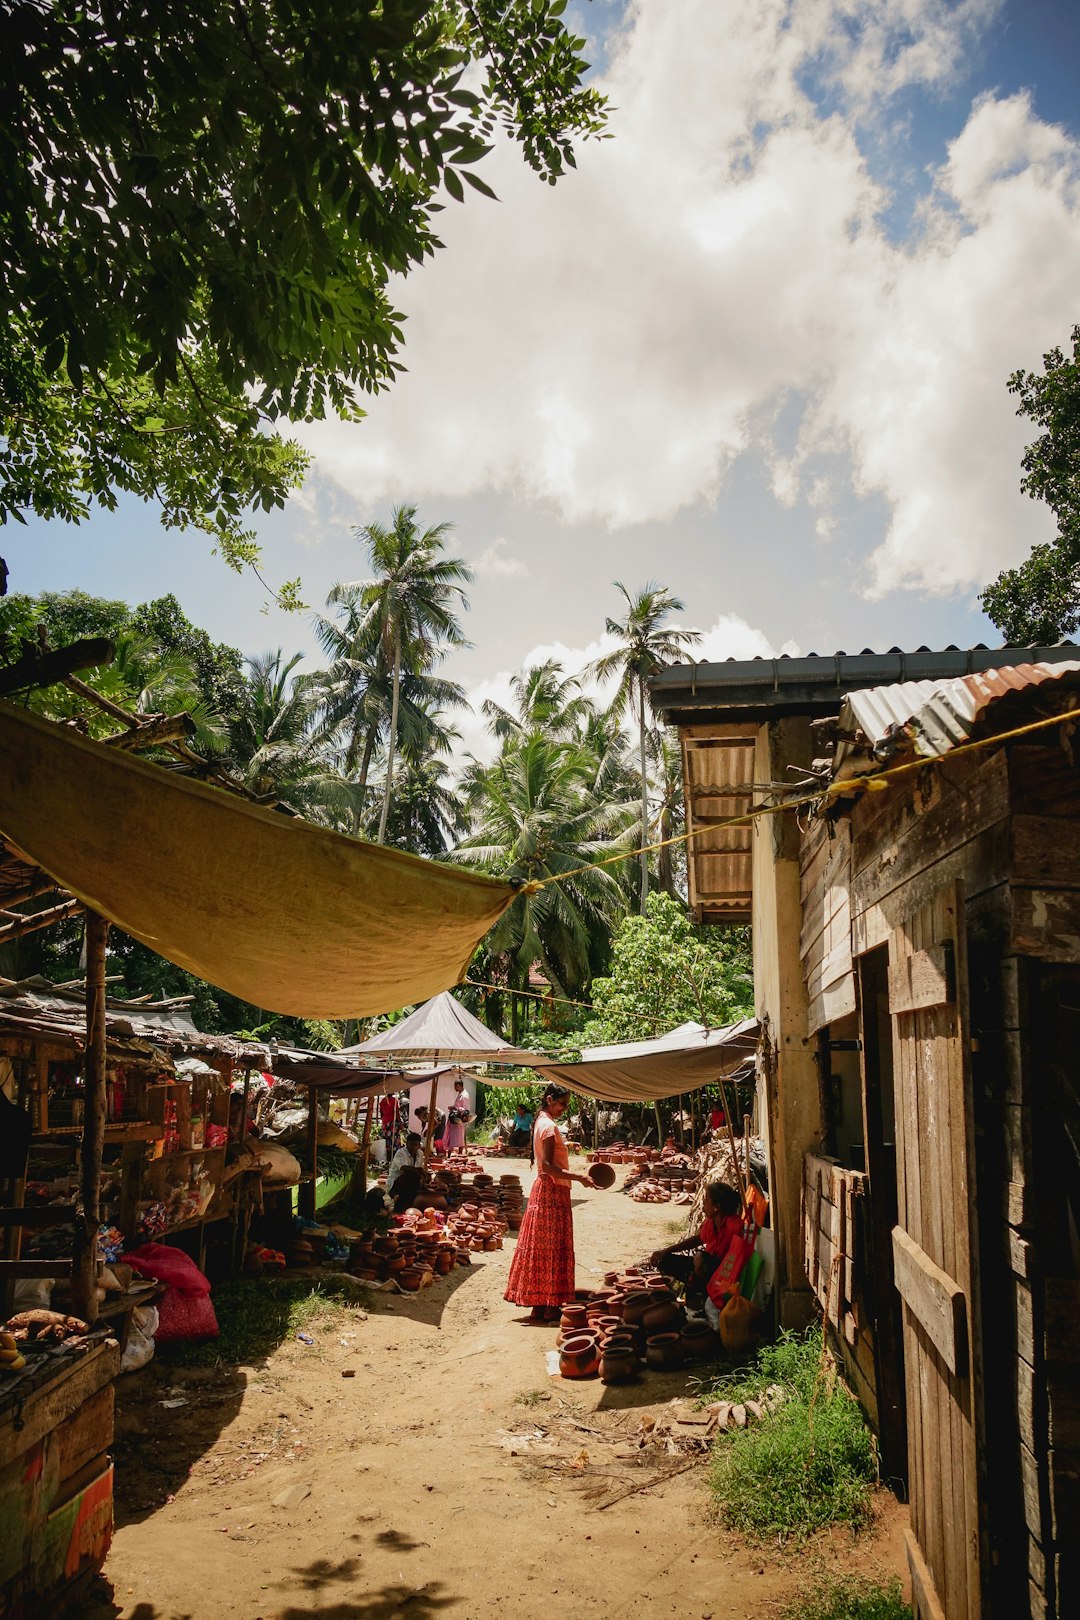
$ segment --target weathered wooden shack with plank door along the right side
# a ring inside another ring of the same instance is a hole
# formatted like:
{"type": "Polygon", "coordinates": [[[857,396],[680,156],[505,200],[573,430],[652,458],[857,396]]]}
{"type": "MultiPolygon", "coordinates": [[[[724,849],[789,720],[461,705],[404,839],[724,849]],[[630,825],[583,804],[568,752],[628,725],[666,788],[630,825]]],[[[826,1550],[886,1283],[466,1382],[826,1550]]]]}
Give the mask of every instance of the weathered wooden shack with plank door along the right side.
{"type": "MultiPolygon", "coordinates": [[[[1080,768],[1075,721],[1057,716],[1080,706],[1080,648],[918,656],[918,679],[863,687],[827,661],[813,701],[803,667],[787,701],[805,713],[759,716],[758,802],[780,761],[801,800],[829,789],[753,838],[785,1317],[800,1290],[826,1312],[882,1471],[908,1492],[920,1620],[1065,1620],[1080,1612],[1080,768]]],[[[745,692],[709,697],[717,727],[746,723],[745,692]]],[[[693,724],[699,742],[701,705],[693,724]]]]}

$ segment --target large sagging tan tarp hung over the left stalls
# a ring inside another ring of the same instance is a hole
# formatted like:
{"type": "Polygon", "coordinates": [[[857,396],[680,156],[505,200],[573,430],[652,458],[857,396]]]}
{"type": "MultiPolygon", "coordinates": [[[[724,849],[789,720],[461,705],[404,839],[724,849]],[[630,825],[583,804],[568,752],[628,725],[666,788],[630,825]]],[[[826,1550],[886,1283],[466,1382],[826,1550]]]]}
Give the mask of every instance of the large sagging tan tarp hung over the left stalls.
{"type": "Polygon", "coordinates": [[[366,1017],[447,990],[515,897],[6,703],[0,833],[170,962],[300,1017],[366,1017]]]}

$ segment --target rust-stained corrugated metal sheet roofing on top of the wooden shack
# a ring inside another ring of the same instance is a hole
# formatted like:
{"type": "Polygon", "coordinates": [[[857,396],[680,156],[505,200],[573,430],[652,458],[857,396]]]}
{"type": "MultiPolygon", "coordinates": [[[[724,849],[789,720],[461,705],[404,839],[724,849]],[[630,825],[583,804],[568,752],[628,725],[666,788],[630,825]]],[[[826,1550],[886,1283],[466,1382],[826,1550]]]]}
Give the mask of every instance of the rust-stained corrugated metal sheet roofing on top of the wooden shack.
{"type": "Polygon", "coordinates": [[[952,680],[907,680],[852,692],[840,708],[836,770],[853,753],[876,760],[913,750],[925,758],[967,742],[989,708],[1031,687],[1080,685],[1080,661],[1006,664],[952,680]]]}

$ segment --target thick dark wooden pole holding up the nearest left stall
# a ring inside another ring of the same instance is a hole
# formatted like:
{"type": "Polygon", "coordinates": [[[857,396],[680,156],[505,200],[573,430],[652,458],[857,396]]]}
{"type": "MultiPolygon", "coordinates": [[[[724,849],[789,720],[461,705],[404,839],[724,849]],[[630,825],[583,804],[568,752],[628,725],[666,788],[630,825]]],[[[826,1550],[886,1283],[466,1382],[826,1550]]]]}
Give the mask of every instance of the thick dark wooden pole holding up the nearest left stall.
{"type": "Polygon", "coordinates": [[[86,1111],[79,1155],[79,1205],[74,1220],[71,1309],[94,1322],[97,1304],[97,1228],[100,1226],[102,1150],[105,1147],[105,943],[108,923],[86,914],[86,1111]]]}

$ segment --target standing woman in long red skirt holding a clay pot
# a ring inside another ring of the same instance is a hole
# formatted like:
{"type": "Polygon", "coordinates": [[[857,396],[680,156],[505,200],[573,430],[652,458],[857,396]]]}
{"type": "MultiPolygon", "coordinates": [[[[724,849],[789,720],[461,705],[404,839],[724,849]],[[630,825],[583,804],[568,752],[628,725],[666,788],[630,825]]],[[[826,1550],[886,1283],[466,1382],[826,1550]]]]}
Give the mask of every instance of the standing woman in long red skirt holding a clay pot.
{"type": "Polygon", "coordinates": [[[570,1097],[565,1085],[549,1085],[533,1126],[533,1162],[536,1181],[518,1246],[510,1265],[505,1299],[513,1306],[531,1306],[533,1322],[552,1322],[562,1306],[573,1299],[573,1217],[570,1183],[583,1187],[588,1176],[573,1176],[567,1144],[555,1129],[555,1119],[567,1111],[570,1097]]]}

